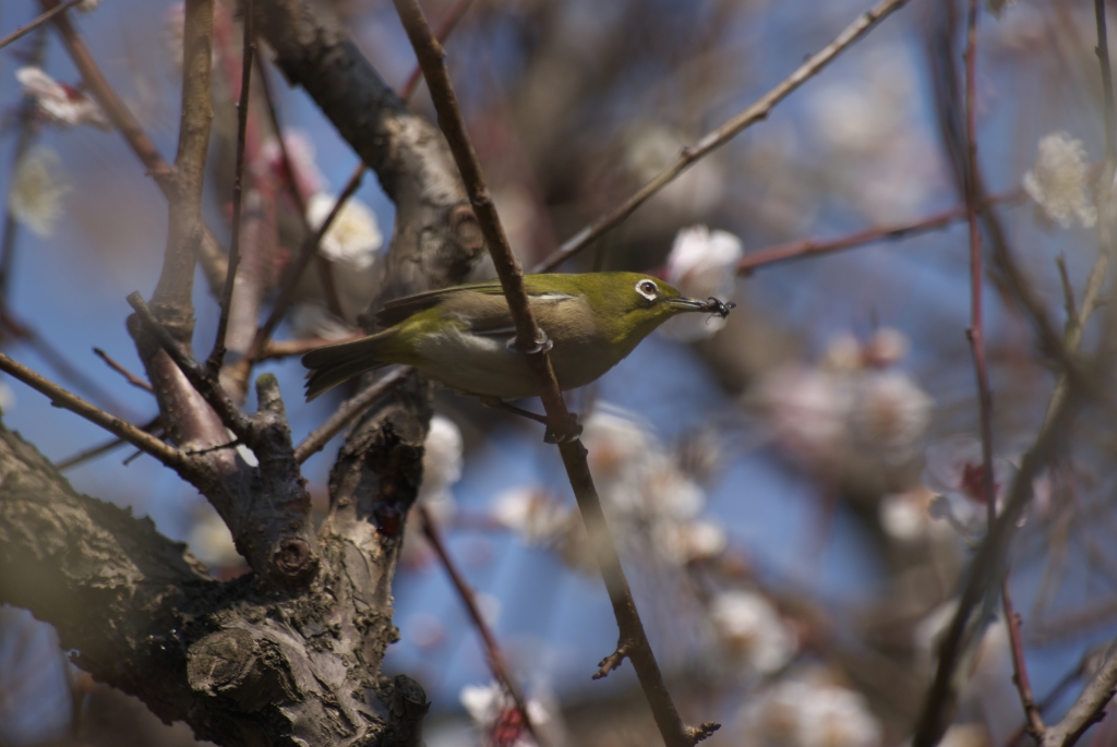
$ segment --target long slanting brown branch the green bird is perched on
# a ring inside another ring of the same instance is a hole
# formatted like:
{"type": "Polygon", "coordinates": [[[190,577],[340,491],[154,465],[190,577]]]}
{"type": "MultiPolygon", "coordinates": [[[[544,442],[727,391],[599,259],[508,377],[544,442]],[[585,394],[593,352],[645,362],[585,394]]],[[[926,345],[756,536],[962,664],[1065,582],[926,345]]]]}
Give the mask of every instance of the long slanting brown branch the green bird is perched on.
{"type": "MultiPolygon", "coordinates": [[[[900,0],[889,0],[900,4],[900,0]]],[[[621,566],[617,546],[609,534],[601,500],[593,486],[590,468],[586,463],[586,451],[577,440],[577,425],[566,410],[558,383],[555,381],[551,360],[547,356],[546,338],[535,324],[527,293],[524,289],[523,272],[508,238],[500,224],[496,207],[489,197],[477,154],[466,130],[457,96],[450,84],[449,70],[446,67],[446,56],[442,46],[431,35],[430,27],[417,0],[393,0],[403,28],[407,30],[411,46],[419,58],[427,87],[431,92],[435,109],[438,112],[438,123],[446,135],[450,152],[461,172],[462,182],[469,194],[477,222],[485,236],[489,255],[508,309],[516,326],[516,345],[524,353],[532,375],[538,382],[540,399],[547,413],[551,431],[558,441],[558,451],[566,468],[571,487],[577,499],[582,518],[585,521],[590,542],[593,545],[598,565],[601,569],[609,597],[613,605],[620,629],[618,649],[628,651],[632,667],[637,671],[645,697],[651,707],[652,716],[659,727],[663,741],[668,747],[691,747],[697,741],[708,737],[716,728],[715,724],[704,724],[688,728],[679,717],[678,709],[667,691],[659,663],[648,642],[643,623],[632,598],[632,591],[624,569],[621,566]]]]}

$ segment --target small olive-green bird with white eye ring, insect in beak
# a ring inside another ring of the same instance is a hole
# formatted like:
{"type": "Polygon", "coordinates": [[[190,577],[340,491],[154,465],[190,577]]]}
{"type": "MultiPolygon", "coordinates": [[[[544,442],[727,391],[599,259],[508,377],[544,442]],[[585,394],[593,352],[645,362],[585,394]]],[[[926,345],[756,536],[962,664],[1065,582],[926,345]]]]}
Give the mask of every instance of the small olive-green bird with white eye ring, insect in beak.
{"type": "MultiPolygon", "coordinates": [[[[652,329],[677,314],[723,318],[734,304],[684,298],[637,272],[528,275],[532,312],[551,344],[558,386],[583,386],[627,356],[652,329]]],[[[498,280],[431,290],[390,301],[376,315],[382,332],[303,356],[306,399],[390,363],[414,366],[428,379],[494,403],[537,396],[498,280]]]]}

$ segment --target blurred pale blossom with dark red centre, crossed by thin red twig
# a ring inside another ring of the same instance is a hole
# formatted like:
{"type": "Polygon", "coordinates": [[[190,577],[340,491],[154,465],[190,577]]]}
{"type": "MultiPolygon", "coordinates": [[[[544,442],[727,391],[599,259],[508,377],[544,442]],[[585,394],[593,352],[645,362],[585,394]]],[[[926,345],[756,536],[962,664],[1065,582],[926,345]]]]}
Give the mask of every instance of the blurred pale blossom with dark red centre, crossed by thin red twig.
{"type": "MultiPolygon", "coordinates": [[[[982,447],[975,435],[964,433],[927,447],[923,483],[935,494],[930,514],[949,523],[963,536],[974,538],[985,531],[986,497],[982,479],[982,447]]],[[[1015,468],[1005,459],[993,459],[993,495],[996,510],[1004,509],[1004,496],[1015,468]]]]}

